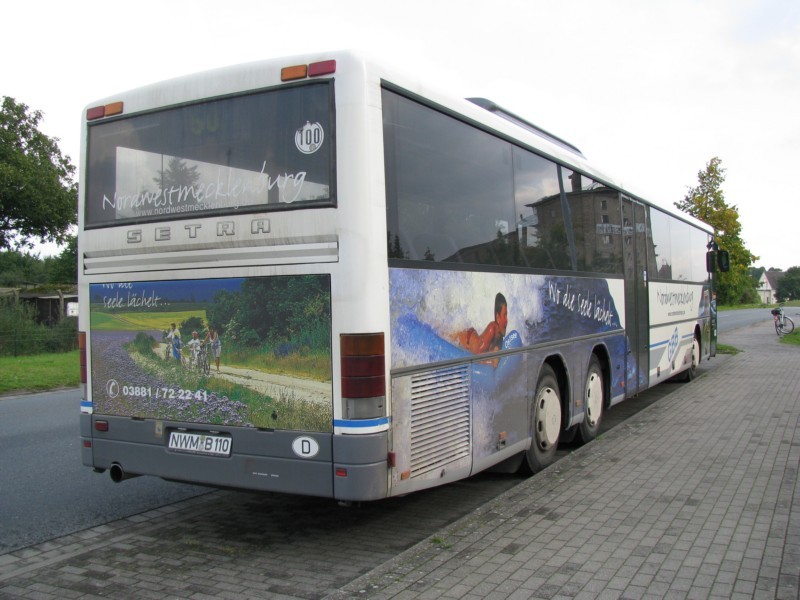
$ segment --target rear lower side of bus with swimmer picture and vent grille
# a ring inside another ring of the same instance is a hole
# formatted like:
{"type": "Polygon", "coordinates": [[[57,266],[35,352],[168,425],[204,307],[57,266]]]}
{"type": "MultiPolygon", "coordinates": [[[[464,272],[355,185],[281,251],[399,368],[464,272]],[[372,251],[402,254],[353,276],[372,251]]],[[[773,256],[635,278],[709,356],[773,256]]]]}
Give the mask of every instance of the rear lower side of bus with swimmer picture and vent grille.
{"type": "MultiPolygon", "coordinates": [[[[574,338],[607,333],[619,346],[609,352],[624,355],[621,280],[390,269],[390,285],[392,494],[525,449],[528,403],[548,352],[525,348],[569,348],[574,338]]],[[[617,363],[614,395],[624,388],[617,363]]]]}

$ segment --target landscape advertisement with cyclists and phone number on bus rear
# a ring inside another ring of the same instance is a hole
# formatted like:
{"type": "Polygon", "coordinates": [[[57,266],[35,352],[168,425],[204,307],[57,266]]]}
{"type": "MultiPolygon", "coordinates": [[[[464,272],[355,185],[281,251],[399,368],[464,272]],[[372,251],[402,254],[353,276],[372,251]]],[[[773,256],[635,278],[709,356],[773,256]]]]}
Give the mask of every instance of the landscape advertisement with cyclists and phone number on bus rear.
{"type": "Polygon", "coordinates": [[[332,431],[330,276],[90,286],[93,411],[332,431]]]}

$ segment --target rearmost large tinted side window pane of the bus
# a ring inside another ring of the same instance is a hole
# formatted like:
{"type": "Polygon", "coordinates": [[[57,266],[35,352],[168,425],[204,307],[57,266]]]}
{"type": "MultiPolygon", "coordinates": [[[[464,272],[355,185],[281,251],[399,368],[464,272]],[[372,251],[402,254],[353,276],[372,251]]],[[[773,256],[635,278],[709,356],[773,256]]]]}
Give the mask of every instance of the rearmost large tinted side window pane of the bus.
{"type": "Polygon", "coordinates": [[[513,264],[511,146],[383,92],[392,258],[513,264]]]}

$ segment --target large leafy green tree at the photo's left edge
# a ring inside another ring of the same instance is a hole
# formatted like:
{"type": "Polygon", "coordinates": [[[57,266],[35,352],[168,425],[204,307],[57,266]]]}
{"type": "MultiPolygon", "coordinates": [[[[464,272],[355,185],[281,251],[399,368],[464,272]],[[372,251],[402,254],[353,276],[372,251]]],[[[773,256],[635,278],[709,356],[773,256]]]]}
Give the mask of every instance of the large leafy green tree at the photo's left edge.
{"type": "Polygon", "coordinates": [[[0,108],[0,248],[32,238],[66,241],[77,223],[75,167],[58,140],[39,131],[41,111],[3,96],[0,108]]]}

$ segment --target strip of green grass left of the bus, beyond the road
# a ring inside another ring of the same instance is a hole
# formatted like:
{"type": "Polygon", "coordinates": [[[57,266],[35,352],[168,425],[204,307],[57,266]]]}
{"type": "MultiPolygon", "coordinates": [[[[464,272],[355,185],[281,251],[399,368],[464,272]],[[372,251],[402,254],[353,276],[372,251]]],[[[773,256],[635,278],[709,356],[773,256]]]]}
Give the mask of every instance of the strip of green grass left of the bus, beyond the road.
{"type": "Polygon", "coordinates": [[[78,387],[78,351],[0,357],[0,394],[78,387]]]}

